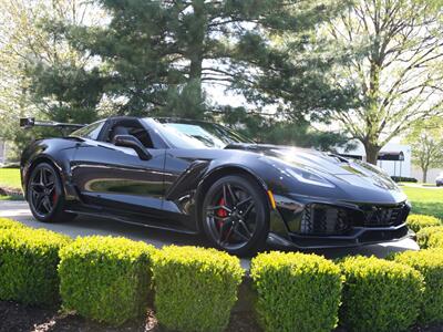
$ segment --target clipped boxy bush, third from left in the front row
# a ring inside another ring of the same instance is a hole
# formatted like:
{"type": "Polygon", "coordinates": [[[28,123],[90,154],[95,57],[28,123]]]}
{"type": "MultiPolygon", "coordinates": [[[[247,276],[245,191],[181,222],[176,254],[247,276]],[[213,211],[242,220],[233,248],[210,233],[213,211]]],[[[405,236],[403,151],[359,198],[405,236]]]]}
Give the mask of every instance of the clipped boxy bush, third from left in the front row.
{"type": "Polygon", "coordinates": [[[223,331],[244,273],[239,259],[215,249],[165,247],[154,259],[158,322],[172,330],[223,331]]]}

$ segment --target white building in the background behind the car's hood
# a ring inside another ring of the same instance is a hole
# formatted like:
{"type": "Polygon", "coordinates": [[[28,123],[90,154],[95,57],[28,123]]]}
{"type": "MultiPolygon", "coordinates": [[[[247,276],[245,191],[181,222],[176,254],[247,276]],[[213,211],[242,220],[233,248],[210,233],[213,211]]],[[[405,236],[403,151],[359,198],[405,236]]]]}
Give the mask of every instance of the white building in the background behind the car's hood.
{"type": "MultiPolygon", "coordinates": [[[[356,156],[365,160],[365,152],[363,144],[361,144],[360,142],[356,143],[357,147],[354,149],[344,152],[344,149],[339,148],[338,152],[340,154],[356,156]]],[[[380,151],[379,160],[377,165],[380,168],[384,169],[390,176],[411,177],[411,146],[403,144],[388,143],[380,151]],[[392,159],[398,159],[398,160],[392,160],[392,159]]]]}

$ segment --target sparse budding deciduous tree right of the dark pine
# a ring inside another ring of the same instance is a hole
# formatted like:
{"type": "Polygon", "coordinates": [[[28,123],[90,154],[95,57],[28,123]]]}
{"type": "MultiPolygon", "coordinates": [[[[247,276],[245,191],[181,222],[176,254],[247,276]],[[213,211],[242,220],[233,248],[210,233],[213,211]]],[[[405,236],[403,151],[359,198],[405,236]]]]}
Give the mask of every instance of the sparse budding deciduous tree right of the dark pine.
{"type": "MultiPolygon", "coordinates": [[[[440,1],[440,0],[439,0],[440,1]]],[[[333,84],[354,86],[357,106],[336,112],[375,164],[380,149],[416,122],[442,113],[441,10],[414,0],[356,0],[327,31],[350,60],[333,84]]]]}

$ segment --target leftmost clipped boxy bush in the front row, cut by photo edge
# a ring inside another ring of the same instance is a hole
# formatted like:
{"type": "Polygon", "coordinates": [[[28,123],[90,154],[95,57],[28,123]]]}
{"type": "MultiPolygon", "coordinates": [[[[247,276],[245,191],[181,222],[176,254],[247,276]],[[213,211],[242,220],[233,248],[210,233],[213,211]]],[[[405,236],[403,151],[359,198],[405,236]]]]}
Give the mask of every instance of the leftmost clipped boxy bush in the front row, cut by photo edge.
{"type": "Polygon", "coordinates": [[[59,250],[70,238],[44,229],[12,226],[0,231],[0,299],[25,304],[59,302],[59,250]]]}

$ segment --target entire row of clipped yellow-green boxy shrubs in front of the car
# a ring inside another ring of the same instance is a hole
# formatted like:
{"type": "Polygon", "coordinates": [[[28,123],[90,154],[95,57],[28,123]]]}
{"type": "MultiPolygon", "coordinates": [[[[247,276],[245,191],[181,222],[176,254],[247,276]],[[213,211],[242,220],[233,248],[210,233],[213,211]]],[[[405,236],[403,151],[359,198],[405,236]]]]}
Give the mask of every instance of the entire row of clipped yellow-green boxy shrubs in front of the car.
{"type": "MultiPolygon", "coordinates": [[[[265,331],[331,331],[338,322],[349,331],[402,331],[443,322],[443,249],[390,260],[260,253],[250,269],[257,318],[265,331]]],[[[0,219],[3,300],[53,304],[61,294],[65,310],[119,325],[142,314],[153,293],[165,328],[223,331],[243,274],[238,258],[215,249],[157,250],[112,237],[72,241],[0,219]]]]}

